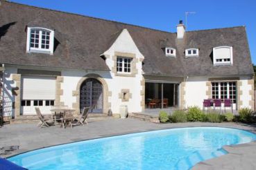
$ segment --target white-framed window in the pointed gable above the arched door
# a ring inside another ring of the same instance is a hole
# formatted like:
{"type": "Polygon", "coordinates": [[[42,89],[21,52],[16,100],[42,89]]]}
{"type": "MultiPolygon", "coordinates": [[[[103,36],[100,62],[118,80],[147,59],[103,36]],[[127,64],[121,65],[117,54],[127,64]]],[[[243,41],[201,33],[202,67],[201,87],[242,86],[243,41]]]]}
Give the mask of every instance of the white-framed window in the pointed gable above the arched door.
{"type": "Polygon", "coordinates": [[[117,57],[117,73],[131,73],[131,62],[131,58],[117,57]]]}

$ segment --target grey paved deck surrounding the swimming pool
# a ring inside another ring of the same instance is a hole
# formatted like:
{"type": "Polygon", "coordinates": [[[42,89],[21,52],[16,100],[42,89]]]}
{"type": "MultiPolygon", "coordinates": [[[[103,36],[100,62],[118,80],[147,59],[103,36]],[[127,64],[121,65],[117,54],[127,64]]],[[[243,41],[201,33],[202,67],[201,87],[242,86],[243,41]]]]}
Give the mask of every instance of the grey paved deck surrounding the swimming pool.
{"type": "MultiPolygon", "coordinates": [[[[228,122],[221,124],[207,122],[153,124],[130,118],[123,120],[108,118],[102,121],[89,122],[87,126],[74,126],[73,129],[62,129],[60,126],[40,129],[36,125],[6,124],[2,126],[0,128],[0,156],[9,157],[34,149],[80,140],[179,127],[219,126],[244,129],[256,133],[256,126],[228,122]],[[19,146],[19,149],[5,154],[2,148],[10,146],[19,146]]],[[[224,147],[224,149],[229,152],[227,155],[200,162],[193,169],[256,169],[256,142],[224,147]]]]}

